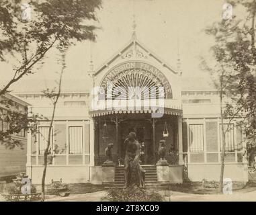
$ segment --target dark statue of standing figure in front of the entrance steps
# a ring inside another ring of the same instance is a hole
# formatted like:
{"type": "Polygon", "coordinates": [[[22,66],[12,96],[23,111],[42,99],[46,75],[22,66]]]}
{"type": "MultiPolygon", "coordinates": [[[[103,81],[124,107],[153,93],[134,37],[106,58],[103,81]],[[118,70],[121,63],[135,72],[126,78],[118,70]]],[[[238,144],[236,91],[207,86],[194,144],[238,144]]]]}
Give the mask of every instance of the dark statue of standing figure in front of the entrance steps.
{"type": "Polygon", "coordinates": [[[126,155],[124,158],[124,187],[144,187],[144,169],[140,167],[140,144],[136,140],[136,133],[130,132],[124,140],[126,155]]]}

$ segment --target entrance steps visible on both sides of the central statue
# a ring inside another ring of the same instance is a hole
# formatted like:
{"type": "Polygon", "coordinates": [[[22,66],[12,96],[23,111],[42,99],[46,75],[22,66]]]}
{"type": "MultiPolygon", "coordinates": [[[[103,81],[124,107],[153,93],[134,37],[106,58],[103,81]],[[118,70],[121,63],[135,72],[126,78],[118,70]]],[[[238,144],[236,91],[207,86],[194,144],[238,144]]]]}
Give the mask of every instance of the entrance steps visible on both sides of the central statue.
{"type": "MultiPolygon", "coordinates": [[[[145,187],[146,188],[163,188],[168,187],[168,183],[161,183],[157,181],[157,167],[155,165],[142,165],[145,173],[145,187]]],[[[117,166],[115,169],[114,183],[108,188],[124,188],[124,166],[117,166]]]]}

